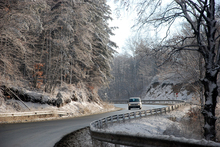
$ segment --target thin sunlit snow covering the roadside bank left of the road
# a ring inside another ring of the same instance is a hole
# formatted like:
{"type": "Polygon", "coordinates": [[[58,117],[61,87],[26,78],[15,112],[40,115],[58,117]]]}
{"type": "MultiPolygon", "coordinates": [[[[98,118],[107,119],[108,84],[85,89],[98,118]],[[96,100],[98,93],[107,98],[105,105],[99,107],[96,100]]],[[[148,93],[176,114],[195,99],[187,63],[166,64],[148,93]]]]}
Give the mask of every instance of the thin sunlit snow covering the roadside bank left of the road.
{"type": "MultiPolygon", "coordinates": [[[[24,88],[23,88],[24,89],[24,88]]],[[[26,93],[33,93],[35,91],[29,91],[24,89],[26,93]]],[[[35,92],[36,93],[36,92],[35,92]]],[[[53,94],[43,93],[44,96],[47,96],[48,99],[57,99],[57,94],[62,95],[62,99],[69,99],[69,103],[64,103],[63,106],[57,107],[53,105],[48,105],[47,103],[32,103],[24,102],[30,110],[19,100],[14,99],[4,99],[3,95],[0,92],[0,113],[16,113],[16,112],[29,112],[29,111],[66,111],[72,116],[81,116],[94,113],[101,113],[106,111],[115,110],[114,105],[108,104],[105,102],[94,102],[88,101],[88,91],[85,88],[77,88],[73,85],[63,85],[55,89],[53,94]],[[76,100],[73,100],[72,97],[75,96],[76,100]]],[[[38,94],[38,93],[37,93],[38,94]]],[[[39,93],[42,94],[42,93],[39,93]]],[[[38,95],[39,95],[38,94],[38,95]]]]}

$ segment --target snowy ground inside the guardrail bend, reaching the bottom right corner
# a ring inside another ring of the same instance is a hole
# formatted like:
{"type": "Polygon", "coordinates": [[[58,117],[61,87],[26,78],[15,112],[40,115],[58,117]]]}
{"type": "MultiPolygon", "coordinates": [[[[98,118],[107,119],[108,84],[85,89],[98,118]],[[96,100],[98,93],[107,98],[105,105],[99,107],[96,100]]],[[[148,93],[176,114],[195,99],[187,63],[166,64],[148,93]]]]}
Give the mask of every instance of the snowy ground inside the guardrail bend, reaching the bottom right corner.
{"type": "MultiPolygon", "coordinates": [[[[220,143],[202,139],[201,132],[194,134],[195,131],[191,128],[187,128],[186,124],[181,123],[182,119],[188,119],[188,117],[185,116],[189,112],[190,108],[192,108],[192,106],[179,108],[178,110],[167,114],[130,120],[120,124],[115,123],[101,131],[220,146],[220,143]]],[[[199,126],[199,124],[194,125],[199,126]]]]}

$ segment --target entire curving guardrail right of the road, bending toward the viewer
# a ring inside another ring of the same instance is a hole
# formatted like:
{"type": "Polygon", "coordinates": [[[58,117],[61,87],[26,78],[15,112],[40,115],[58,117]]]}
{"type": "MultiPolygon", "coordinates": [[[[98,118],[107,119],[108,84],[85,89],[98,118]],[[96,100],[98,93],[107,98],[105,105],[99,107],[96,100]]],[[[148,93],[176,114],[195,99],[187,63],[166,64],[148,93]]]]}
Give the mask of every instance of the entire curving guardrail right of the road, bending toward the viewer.
{"type": "MultiPolygon", "coordinates": [[[[148,101],[151,102],[152,100],[148,101]]],[[[158,100],[156,100],[158,101],[158,100]]],[[[159,100],[164,102],[165,100],[159,100]]],[[[155,100],[153,100],[155,102],[155,100]]],[[[170,104],[169,100],[169,104],[170,104]]],[[[143,100],[142,100],[143,103],[143,100]]],[[[167,103],[167,102],[165,102],[167,103]]],[[[112,143],[115,146],[120,145],[128,145],[128,146],[181,146],[181,147],[201,147],[201,146],[220,146],[215,142],[211,143],[204,143],[204,141],[195,141],[193,139],[183,139],[183,138],[164,138],[161,136],[134,136],[129,134],[115,134],[115,133],[108,133],[102,130],[108,125],[112,125],[113,123],[118,122],[125,122],[126,120],[137,119],[142,117],[147,117],[155,114],[162,114],[166,112],[170,112],[174,109],[179,108],[182,105],[185,105],[184,101],[173,101],[175,105],[171,105],[165,108],[157,108],[151,110],[142,110],[142,111],[135,111],[125,114],[119,115],[112,115],[105,118],[101,118],[99,120],[95,120],[90,123],[90,134],[93,140],[93,146],[106,146],[108,143],[112,143]]],[[[158,104],[158,103],[157,103],[158,104]]],[[[168,104],[168,103],[167,103],[168,104]]]]}

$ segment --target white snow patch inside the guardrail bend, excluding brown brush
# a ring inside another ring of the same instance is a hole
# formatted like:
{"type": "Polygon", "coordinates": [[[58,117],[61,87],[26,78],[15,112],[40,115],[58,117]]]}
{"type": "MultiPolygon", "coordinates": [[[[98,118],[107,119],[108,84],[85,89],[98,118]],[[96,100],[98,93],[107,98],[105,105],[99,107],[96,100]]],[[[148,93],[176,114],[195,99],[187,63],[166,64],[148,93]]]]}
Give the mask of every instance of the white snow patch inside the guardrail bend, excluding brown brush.
{"type": "Polygon", "coordinates": [[[132,135],[163,135],[167,128],[175,126],[180,131],[183,126],[178,122],[190,109],[189,106],[168,114],[153,115],[142,119],[131,120],[126,123],[114,124],[105,129],[107,132],[132,135]],[[175,118],[175,121],[171,119],[175,118]]]}

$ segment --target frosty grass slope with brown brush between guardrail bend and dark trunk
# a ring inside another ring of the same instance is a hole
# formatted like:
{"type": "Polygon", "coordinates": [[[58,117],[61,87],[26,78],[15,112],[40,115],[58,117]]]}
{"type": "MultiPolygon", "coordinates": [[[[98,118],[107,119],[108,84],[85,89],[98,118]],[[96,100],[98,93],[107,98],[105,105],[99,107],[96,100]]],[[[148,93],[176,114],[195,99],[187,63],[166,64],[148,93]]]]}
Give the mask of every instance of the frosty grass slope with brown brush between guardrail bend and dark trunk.
{"type": "Polygon", "coordinates": [[[114,124],[106,128],[105,131],[141,136],[173,135],[189,139],[202,139],[200,119],[194,121],[188,117],[187,113],[191,108],[187,106],[163,115],[114,124]]]}

